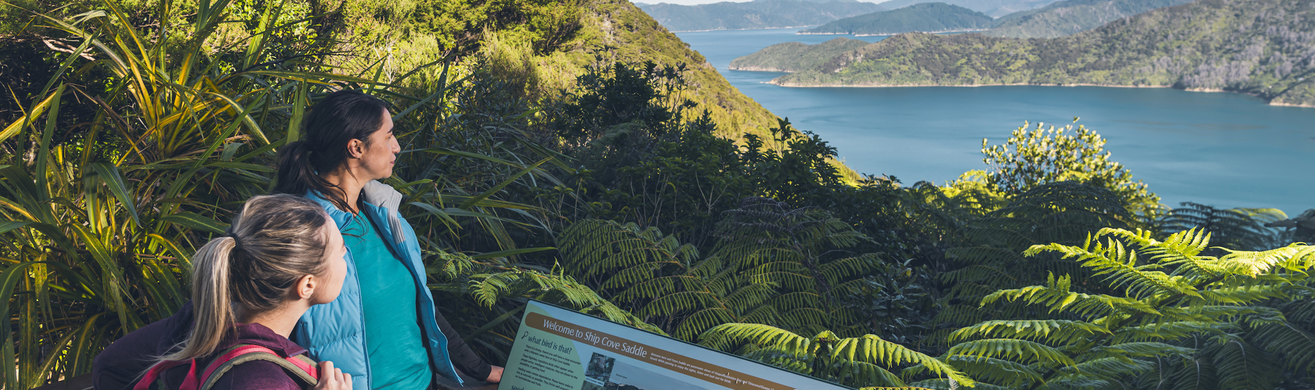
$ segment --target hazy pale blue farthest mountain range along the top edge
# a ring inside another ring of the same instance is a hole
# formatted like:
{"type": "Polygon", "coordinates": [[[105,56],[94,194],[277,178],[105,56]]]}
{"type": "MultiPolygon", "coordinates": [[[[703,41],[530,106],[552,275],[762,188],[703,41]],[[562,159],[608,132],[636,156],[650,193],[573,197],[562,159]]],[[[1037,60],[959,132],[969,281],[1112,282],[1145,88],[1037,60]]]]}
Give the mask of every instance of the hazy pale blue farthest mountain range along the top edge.
{"type": "Polygon", "coordinates": [[[882,11],[855,0],[755,0],[701,5],[635,3],[671,32],[743,30],[815,26],[842,17],[882,11]]]}

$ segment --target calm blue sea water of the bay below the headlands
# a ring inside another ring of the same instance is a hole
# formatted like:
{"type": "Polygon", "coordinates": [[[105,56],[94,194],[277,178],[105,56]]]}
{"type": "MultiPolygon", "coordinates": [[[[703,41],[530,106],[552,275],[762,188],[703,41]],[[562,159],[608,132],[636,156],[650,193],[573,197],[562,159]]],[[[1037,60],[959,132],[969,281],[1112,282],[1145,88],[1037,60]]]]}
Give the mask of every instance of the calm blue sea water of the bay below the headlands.
{"type": "MultiPolygon", "coordinates": [[[[797,129],[819,134],[861,173],[943,184],[982,169],[981,142],[1003,143],[1023,121],[1095,130],[1111,160],[1170,206],[1315,207],[1315,108],[1272,106],[1237,93],[1109,87],[786,88],[784,74],[729,71],[781,42],[836,35],[798,29],[677,33],[735,88],[797,129]]],[[[884,37],[848,37],[876,42],[884,37]]]]}

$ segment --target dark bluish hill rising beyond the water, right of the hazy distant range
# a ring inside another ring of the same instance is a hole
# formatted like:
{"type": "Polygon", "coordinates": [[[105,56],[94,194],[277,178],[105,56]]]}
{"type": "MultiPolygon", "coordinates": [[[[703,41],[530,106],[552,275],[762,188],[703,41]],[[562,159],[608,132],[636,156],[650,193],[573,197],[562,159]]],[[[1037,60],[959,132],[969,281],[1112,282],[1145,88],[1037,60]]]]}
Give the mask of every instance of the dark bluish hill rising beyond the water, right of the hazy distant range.
{"type": "Polygon", "coordinates": [[[993,24],[990,16],[945,3],[923,3],[836,20],[800,34],[888,35],[910,32],[984,30],[993,24]]]}

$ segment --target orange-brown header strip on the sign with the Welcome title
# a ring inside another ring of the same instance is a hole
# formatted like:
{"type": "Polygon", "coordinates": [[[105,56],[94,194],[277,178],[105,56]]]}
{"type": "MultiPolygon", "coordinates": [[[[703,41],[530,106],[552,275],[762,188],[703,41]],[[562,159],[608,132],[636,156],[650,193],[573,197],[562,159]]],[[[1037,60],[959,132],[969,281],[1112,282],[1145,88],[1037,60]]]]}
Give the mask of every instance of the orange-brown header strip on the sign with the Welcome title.
{"type": "Polygon", "coordinates": [[[655,366],[686,374],[700,381],[717,383],[735,390],[794,390],[793,387],[781,383],[727,370],[722,366],[700,360],[686,358],[681,355],[652,348],[594,330],[583,328],[573,323],[565,323],[533,311],[527,314],[525,323],[540,331],[585,343],[593,345],[594,348],[625,355],[655,366]]]}

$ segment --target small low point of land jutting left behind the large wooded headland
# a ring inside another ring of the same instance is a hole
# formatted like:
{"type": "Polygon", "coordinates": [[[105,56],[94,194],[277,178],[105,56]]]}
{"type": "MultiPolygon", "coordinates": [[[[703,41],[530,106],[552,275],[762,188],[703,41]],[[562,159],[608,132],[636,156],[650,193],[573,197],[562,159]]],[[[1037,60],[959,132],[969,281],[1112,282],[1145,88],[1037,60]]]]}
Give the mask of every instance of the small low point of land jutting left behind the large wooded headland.
{"type": "Polygon", "coordinates": [[[760,72],[798,72],[831,58],[867,46],[868,42],[849,38],[835,38],[817,45],[785,42],[767,46],[757,53],[731,60],[731,70],[760,72]]]}

